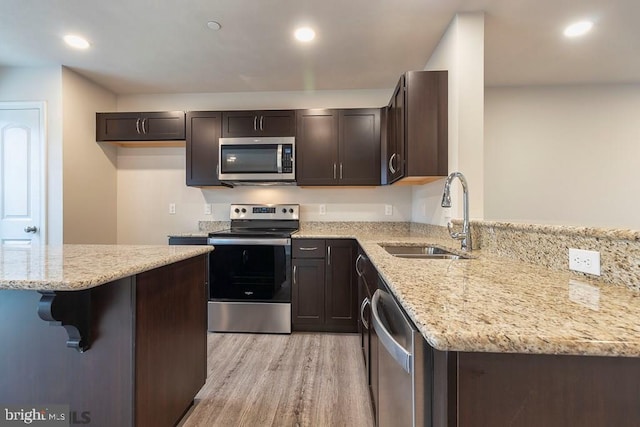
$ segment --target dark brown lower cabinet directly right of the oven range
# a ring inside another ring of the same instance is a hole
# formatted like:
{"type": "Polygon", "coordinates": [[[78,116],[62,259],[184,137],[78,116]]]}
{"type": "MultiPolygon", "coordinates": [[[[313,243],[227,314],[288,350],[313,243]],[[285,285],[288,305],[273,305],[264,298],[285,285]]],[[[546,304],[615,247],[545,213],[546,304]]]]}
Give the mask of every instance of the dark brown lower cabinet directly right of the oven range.
{"type": "Polygon", "coordinates": [[[292,329],[356,332],[356,243],[351,239],[294,239],[292,251],[292,329]]]}

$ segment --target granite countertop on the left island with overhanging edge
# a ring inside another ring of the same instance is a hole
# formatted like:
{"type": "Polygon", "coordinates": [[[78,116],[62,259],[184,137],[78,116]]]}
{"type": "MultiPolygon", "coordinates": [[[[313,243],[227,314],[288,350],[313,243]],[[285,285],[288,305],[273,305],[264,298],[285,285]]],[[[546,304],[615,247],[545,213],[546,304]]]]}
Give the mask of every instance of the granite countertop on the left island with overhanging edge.
{"type": "Polygon", "coordinates": [[[0,289],[88,289],[211,250],[212,246],[4,247],[0,249],[0,289]]]}

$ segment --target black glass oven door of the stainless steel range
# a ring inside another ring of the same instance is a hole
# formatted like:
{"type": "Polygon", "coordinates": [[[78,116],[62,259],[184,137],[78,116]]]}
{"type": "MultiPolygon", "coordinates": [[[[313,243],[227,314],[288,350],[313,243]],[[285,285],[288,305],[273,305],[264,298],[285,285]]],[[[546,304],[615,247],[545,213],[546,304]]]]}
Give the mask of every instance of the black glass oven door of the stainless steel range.
{"type": "Polygon", "coordinates": [[[209,300],[291,302],[291,239],[210,238],[209,300]]]}

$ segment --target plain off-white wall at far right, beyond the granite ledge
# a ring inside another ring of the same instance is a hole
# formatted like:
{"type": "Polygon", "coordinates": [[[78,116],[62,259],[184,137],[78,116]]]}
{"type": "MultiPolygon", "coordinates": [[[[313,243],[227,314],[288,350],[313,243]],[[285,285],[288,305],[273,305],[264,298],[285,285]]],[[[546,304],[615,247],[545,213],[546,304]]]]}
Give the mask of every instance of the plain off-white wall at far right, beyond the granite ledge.
{"type": "Polygon", "coordinates": [[[640,85],[488,88],[487,219],[640,230],[640,85]]]}

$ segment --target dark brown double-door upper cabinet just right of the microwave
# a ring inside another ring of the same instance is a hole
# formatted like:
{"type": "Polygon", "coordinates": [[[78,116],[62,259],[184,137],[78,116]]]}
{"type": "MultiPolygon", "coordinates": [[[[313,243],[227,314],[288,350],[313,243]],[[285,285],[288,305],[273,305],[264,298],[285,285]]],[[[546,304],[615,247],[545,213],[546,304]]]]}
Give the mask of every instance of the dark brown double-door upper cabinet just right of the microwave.
{"type": "Polygon", "coordinates": [[[300,186],[380,185],[380,109],[298,110],[300,186]]]}

